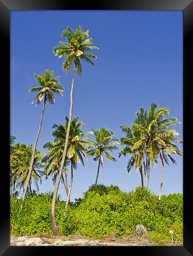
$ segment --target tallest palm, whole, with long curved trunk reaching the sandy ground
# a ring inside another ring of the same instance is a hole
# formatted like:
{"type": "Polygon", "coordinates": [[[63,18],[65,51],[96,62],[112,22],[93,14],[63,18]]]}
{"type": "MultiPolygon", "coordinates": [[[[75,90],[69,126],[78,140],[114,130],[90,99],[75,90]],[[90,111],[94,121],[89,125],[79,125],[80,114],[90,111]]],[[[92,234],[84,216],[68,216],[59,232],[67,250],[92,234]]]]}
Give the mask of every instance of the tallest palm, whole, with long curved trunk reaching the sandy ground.
{"type": "Polygon", "coordinates": [[[87,63],[90,63],[91,65],[95,65],[95,63],[91,60],[97,59],[97,56],[94,54],[91,54],[90,51],[93,49],[99,49],[96,46],[90,46],[92,43],[92,38],[89,38],[89,30],[86,32],[83,31],[81,26],[78,26],[75,32],[73,32],[69,27],[66,28],[66,30],[63,31],[62,36],[67,39],[67,42],[60,41],[60,45],[57,45],[53,48],[53,53],[55,56],[66,57],[62,68],[64,72],[68,72],[70,66],[73,64],[73,76],[72,76],[72,83],[71,83],[71,93],[70,93],[70,109],[69,109],[69,122],[67,126],[67,132],[66,132],[66,141],[64,145],[64,152],[62,156],[62,161],[60,164],[60,171],[58,174],[58,179],[55,186],[55,191],[53,195],[52,200],[52,207],[51,207],[51,230],[53,234],[59,234],[60,230],[57,228],[55,223],[55,201],[56,201],[56,195],[58,192],[58,187],[60,184],[60,179],[62,176],[62,169],[65,163],[66,154],[67,154],[67,144],[68,144],[68,138],[69,138],[69,130],[70,130],[70,124],[72,119],[72,108],[73,108],[73,87],[74,87],[74,77],[75,77],[75,69],[79,76],[82,74],[82,65],[80,61],[86,61],[87,63]],[[87,37],[87,39],[85,39],[87,37]]]}

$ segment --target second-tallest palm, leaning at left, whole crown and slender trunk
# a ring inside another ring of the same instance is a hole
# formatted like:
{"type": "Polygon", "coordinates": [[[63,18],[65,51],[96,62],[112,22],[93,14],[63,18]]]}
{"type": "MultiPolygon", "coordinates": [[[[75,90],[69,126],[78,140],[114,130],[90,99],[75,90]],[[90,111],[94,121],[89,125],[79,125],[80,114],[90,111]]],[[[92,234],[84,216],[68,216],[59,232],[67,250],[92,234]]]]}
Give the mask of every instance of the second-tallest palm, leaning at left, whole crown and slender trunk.
{"type": "Polygon", "coordinates": [[[54,104],[54,102],[55,102],[54,94],[56,93],[56,94],[62,95],[61,91],[63,91],[63,87],[58,80],[59,76],[56,76],[55,78],[52,77],[53,70],[52,71],[49,71],[48,69],[44,70],[44,74],[42,74],[42,76],[40,76],[39,74],[34,74],[34,75],[35,75],[35,79],[37,80],[38,85],[40,85],[40,86],[33,87],[33,88],[29,89],[29,92],[39,92],[38,95],[33,99],[31,104],[36,102],[36,106],[37,106],[38,104],[40,104],[40,102],[44,98],[44,105],[43,105],[42,116],[40,119],[38,133],[36,135],[36,139],[35,139],[35,143],[34,143],[34,147],[33,147],[31,163],[29,166],[29,173],[27,176],[27,181],[25,183],[24,194],[22,197],[23,200],[25,199],[27,187],[28,187],[29,180],[31,177],[31,172],[32,172],[33,162],[34,162],[34,157],[35,157],[35,150],[36,150],[36,145],[38,142],[38,137],[39,137],[41,126],[42,126],[42,119],[44,116],[44,110],[46,108],[46,102],[49,102],[49,104],[54,104]]]}

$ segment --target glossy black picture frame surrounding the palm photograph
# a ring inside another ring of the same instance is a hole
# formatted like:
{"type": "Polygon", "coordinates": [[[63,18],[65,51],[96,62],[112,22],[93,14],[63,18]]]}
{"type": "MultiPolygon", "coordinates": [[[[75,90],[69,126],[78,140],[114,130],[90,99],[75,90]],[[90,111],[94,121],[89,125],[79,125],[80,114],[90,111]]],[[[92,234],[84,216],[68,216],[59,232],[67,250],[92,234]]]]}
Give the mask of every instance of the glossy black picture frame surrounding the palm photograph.
{"type": "MultiPolygon", "coordinates": [[[[184,26],[184,37],[183,37],[183,195],[184,195],[184,241],[183,247],[113,247],[113,250],[121,252],[131,253],[142,253],[148,255],[193,255],[193,225],[192,225],[192,195],[191,195],[191,184],[192,184],[192,170],[191,170],[191,155],[188,150],[188,143],[191,141],[191,137],[188,135],[189,123],[186,119],[188,114],[191,115],[191,93],[190,89],[192,86],[192,59],[193,54],[191,48],[193,46],[193,0],[111,0],[102,1],[99,0],[94,3],[94,8],[91,2],[85,2],[82,6],[82,2],[64,2],[60,0],[0,0],[0,24],[1,24],[1,54],[2,57],[2,79],[1,81],[6,86],[4,93],[5,104],[2,107],[2,119],[4,125],[10,127],[9,118],[10,109],[10,87],[8,86],[8,78],[10,77],[10,11],[12,10],[182,10],[183,11],[183,26],[184,26]],[[85,8],[86,7],[86,8],[85,8]],[[83,9],[84,8],[84,9],[83,9]],[[6,60],[6,61],[5,61],[6,60]],[[186,100],[185,100],[186,97],[186,100]],[[6,106],[7,104],[7,106],[6,106]],[[6,107],[5,107],[6,106],[6,107]],[[7,113],[9,111],[9,113],[7,113]],[[188,113],[188,114],[187,114],[188,113]],[[190,163],[190,164],[188,164],[190,163]]],[[[6,133],[5,147],[9,150],[9,128],[7,129],[3,125],[3,130],[6,133]]],[[[10,234],[9,234],[9,171],[6,171],[7,165],[9,165],[9,156],[3,156],[5,168],[2,169],[4,172],[3,178],[5,185],[4,193],[1,194],[1,225],[0,225],[0,253],[1,255],[39,255],[46,253],[72,253],[72,250],[79,250],[79,253],[84,249],[86,253],[98,254],[99,250],[105,253],[109,252],[109,247],[13,247],[10,246],[10,234]]],[[[172,182],[172,181],[171,181],[172,182]]]]}

